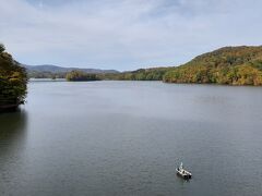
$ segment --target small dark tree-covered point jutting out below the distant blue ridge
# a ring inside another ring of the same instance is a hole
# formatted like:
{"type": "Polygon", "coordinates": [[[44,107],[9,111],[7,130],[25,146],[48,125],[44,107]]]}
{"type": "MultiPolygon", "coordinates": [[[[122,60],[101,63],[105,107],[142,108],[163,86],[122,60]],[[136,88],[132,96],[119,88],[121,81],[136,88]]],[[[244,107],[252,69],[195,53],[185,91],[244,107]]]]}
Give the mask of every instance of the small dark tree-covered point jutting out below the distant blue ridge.
{"type": "Polygon", "coordinates": [[[78,71],[78,70],[69,72],[66,78],[67,81],[70,81],[70,82],[99,81],[96,74],[90,74],[90,73],[85,73],[83,71],[78,71]]]}

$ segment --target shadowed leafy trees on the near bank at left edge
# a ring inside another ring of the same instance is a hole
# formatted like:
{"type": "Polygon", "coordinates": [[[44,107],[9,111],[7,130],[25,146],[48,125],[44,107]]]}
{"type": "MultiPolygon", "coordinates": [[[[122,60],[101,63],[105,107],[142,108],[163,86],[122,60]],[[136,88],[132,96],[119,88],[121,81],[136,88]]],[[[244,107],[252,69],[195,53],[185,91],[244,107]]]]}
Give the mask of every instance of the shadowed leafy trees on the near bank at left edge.
{"type": "Polygon", "coordinates": [[[25,69],[0,44],[0,111],[14,110],[24,103],[26,85],[25,69]]]}

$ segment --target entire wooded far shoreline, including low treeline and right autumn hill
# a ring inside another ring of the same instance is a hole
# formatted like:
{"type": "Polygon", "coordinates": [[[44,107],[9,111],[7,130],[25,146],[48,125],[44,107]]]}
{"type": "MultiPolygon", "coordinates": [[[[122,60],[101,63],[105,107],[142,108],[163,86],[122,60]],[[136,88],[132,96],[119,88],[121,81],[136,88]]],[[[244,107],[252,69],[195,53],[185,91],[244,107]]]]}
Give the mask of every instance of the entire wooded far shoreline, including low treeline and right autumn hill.
{"type": "Polygon", "coordinates": [[[225,47],[199,56],[180,66],[98,74],[88,74],[82,71],[70,73],[34,72],[29,73],[29,77],[68,78],[68,81],[163,81],[166,83],[258,86],[262,85],[262,47],[225,47]]]}

